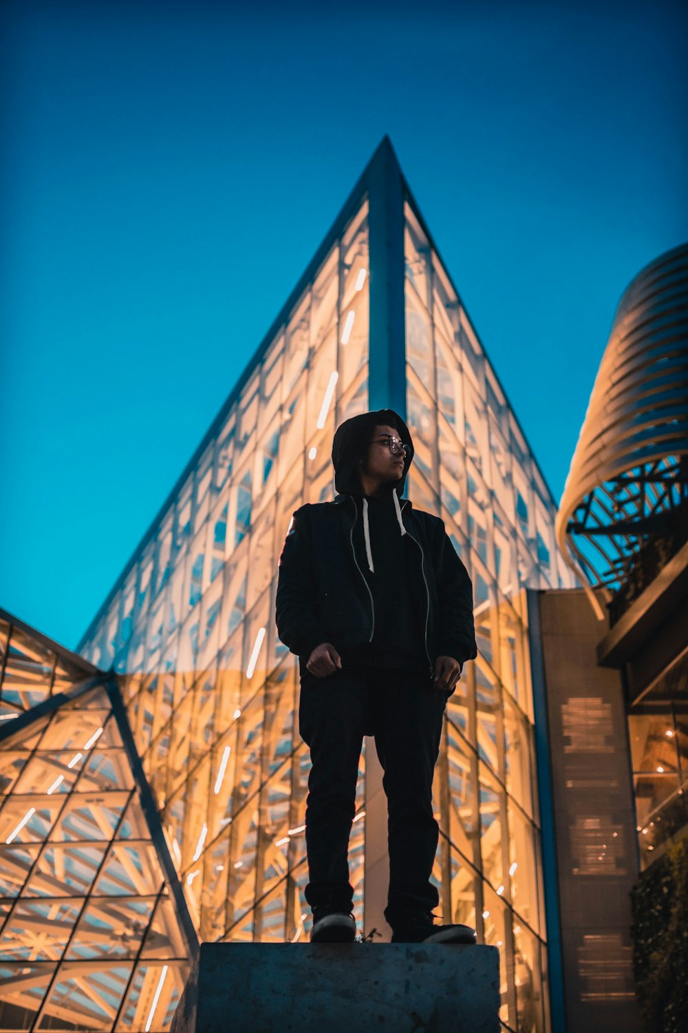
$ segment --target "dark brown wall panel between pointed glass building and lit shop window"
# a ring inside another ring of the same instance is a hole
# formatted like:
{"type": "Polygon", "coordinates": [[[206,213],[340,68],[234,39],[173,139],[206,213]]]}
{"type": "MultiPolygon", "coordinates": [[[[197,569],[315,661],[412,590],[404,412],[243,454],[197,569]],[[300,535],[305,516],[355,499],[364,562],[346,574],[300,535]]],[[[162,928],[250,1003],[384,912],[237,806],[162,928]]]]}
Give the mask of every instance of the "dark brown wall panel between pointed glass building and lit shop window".
{"type": "Polygon", "coordinates": [[[538,603],[557,866],[545,877],[558,879],[566,1030],[634,1033],[637,859],[621,676],[597,666],[605,627],[583,591],[540,592],[538,603]]]}

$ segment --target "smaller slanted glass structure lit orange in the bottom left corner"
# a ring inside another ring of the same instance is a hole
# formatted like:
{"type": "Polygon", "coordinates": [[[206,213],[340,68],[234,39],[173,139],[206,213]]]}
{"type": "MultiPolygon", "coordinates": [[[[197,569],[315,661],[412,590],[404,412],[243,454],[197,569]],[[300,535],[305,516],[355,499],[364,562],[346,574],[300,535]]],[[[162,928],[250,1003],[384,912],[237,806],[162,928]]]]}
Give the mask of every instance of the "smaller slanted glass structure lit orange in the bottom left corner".
{"type": "Polygon", "coordinates": [[[43,698],[0,726],[0,1029],[166,1030],[196,938],[119,689],[1,627],[7,707],[43,698]]]}

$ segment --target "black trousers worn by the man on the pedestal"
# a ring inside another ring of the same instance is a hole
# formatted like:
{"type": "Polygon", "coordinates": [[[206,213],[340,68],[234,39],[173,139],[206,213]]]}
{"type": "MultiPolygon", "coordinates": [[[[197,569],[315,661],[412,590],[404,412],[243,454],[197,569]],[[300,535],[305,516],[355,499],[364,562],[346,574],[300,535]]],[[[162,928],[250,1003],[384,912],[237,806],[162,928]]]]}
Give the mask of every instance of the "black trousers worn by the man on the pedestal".
{"type": "Polygon", "coordinates": [[[438,825],[432,813],[432,774],[448,694],[428,675],[379,667],[301,676],[299,730],[310,748],[305,842],[312,908],[350,911],[349,837],[355,812],[364,734],[372,734],[384,770],[388,804],[390,884],[385,917],[431,911],[430,882],[438,825]]]}

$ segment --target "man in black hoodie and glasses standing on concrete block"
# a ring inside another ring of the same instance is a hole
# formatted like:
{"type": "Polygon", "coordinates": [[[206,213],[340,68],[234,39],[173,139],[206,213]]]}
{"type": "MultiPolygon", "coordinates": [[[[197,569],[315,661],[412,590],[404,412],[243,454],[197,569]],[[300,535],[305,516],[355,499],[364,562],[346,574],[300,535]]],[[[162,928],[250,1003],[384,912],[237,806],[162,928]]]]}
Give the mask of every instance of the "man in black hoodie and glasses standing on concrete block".
{"type": "Polygon", "coordinates": [[[312,941],[351,942],[348,849],[364,734],[388,801],[392,942],[474,943],[435,926],[432,775],[443,715],[477,656],[470,578],[441,520],[403,492],[414,444],[392,409],[334,435],[333,502],[298,508],[280,557],[275,621],[299,658],[299,730],[310,749],[305,841],[312,941]]]}

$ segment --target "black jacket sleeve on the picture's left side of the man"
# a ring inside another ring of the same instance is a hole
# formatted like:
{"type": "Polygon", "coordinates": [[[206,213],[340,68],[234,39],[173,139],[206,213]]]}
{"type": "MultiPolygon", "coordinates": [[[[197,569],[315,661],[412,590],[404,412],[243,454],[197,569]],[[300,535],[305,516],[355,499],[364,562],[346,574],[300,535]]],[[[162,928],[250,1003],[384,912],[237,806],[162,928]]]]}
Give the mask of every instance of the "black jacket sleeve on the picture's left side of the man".
{"type": "Polygon", "coordinates": [[[277,635],[291,653],[310,656],[327,641],[317,609],[313,541],[307,504],[292,515],[277,567],[274,617],[277,635]]]}

